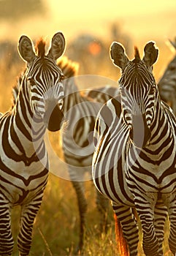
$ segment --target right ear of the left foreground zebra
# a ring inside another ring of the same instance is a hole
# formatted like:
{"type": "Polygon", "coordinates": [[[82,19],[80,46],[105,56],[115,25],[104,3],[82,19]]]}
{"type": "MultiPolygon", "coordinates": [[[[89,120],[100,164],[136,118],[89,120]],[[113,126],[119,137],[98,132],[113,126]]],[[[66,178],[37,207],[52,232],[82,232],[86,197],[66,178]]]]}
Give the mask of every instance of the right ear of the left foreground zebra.
{"type": "Polygon", "coordinates": [[[66,42],[64,35],[61,32],[56,33],[51,41],[50,50],[47,56],[50,56],[55,61],[64,53],[66,42]]]}

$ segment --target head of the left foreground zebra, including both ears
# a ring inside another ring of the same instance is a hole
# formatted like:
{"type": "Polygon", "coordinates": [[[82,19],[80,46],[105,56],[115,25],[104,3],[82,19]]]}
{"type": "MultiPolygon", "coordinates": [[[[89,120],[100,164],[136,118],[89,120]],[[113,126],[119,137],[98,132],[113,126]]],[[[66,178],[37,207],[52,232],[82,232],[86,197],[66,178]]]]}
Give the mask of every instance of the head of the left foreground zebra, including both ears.
{"type": "Polygon", "coordinates": [[[50,49],[45,54],[45,42],[40,39],[36,52],[34,45],[26,36],[20,37],[18,51],[27,69],[24,80],[30,95],[31,110],[35,116],[42,118],[50,131],[61,129],[64,117],[62,113],[64,75],[57,66],[56,60],[64,53],[65,39],[61,32],[53,36],[50,49]]]}

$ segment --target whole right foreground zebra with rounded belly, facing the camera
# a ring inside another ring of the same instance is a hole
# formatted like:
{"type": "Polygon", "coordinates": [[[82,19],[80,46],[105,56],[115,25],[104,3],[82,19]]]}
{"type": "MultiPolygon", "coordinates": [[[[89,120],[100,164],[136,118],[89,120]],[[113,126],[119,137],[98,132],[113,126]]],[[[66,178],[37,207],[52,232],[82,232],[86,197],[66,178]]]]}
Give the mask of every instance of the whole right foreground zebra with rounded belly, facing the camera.
{"type": "Polygon", "coordinates": [[[129,61],[120,43],[110,56],[120,67],[120,93],[99,111],[94,129],[93,182],[112,200],[130,255],[139,241],[136,208],[145,255],[163,255],[164,222],[170,220],[169,248],[175,254],[175,116],[162,102],[152,74],[158,58],[148,42],[141,60],[135,48],[129,61]]]}

